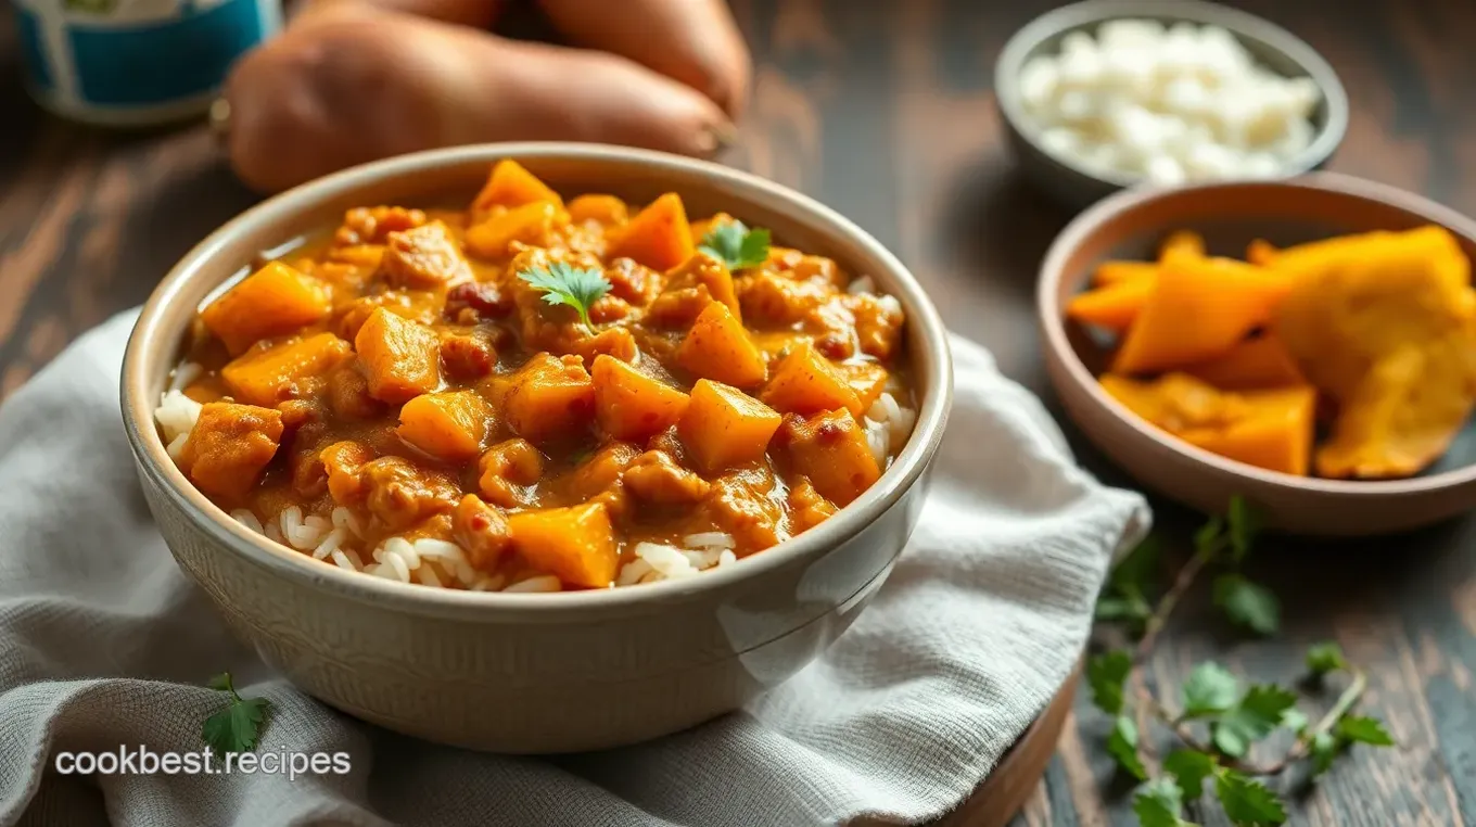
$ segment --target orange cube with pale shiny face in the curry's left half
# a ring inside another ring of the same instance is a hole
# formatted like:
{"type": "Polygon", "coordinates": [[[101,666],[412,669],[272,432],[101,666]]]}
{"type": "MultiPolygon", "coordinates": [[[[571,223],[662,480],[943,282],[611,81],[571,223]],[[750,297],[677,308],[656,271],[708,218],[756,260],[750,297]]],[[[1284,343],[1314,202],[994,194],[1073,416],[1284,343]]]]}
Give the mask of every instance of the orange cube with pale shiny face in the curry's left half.
{"type": "Polygon", "coordinates": [[[399,405],[441,382],[441,340],[435,331],[384,307],[376,307],[359,328],[354,350],[375,399],[399,405]]]}

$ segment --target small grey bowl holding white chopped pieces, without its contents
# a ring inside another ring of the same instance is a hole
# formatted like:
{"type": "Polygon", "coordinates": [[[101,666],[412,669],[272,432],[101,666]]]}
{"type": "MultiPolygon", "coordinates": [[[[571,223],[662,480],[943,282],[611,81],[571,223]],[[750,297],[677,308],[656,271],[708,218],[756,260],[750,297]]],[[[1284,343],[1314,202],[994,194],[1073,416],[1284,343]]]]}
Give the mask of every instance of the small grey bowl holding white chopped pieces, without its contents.
{"type": "Polygon", "coordinates": [[[1038,55],[1057,53],[1067,34],[1095,34],[1103,22],[1123,18],[1218,25],[1272,72],[1312,78],[1322,90],[1322,100],[1312,112],[1314,139],[1287,164],[1287,177],[1320,168],[1342,143],[1348,131],[1348,93],[1333,66],[1284,28],[1238,9],[1199,0],[1086,0],[1052,9],[1026,24],[1005,43],[995,64],[995,102],[1010,148],[1026,176],[1061,204],[1082,208],[1139,180],[1095,173],[1048,152],[1039,142],[1039,127],[1020,100],[1020,69],[1038,55]]]}

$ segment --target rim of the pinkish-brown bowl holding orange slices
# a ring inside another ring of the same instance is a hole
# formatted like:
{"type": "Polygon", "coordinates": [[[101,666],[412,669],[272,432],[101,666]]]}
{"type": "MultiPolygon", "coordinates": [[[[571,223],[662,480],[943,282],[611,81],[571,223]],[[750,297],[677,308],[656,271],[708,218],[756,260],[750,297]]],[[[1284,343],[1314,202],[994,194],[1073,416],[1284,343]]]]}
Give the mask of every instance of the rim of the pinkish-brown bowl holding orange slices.
{"type": "Polygon", "coordinates": [[[1441,224],[1451,232],[1464,236],[1476,244],[1476,220],[1461,213],[1392,185],[1379,183],[1343,173],[1305,173],[1286,180],[1255,180],[1255,182],[1206,182],[1197,185],[1182,185],[1172,188],[1132,188],[1113,193],[1073,219],[1066,229],[1055,236],[1041,261],[1041,273],[1036,281],[1036,309],[1039,312],[1041,329],[1045,334],[1046,347],[1060,359],[1070,381],[1085,390],[1086,396],[1098,406],[1125,422],[1142,439],[1176,450],[1184,458],[1207,465],[1221,474],[1231,474],[1253,480],[1261,486],[1275,490],[1315,492],[1349,499],[1386,498],[1430,493],[1476,484],[1476,462],[1429,474],[1421,477],[1405,477],[1399,480],[1333,480],[1325,477],[1297,477],[1281,471],[1269,471],[1224,458],[1201,447],[1196,447],[1170,434],[1159,431],[1128,406],[1113,399],[1101,388],[1097,377],[1091,374],[1086,363],[1072,347],[1066,334],[1066,313],[1057,297],[1061,281],[1066,278],[1066,261],[1082,242],[1095,235],[1104,223],[1116,216],[1129,213],[1145,204],[1176,198],[1188,192],[1206,192],[1232,188],[1290,188],[1311,189],[1343,198],[1358,198],[1395,207],[1429,223],[1441,224]]]}

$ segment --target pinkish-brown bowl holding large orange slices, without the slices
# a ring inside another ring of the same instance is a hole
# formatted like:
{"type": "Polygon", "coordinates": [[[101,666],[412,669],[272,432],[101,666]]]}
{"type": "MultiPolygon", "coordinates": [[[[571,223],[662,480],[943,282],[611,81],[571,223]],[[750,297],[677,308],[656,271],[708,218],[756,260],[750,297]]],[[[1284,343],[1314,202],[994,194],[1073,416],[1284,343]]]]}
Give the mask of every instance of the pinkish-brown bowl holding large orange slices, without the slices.
{"type": "Polygon", "coordinates": [[[1296,477],[1244,465],[1181,442],[1132,415],[1094,378],[1107,351],[1064,318],[1107,258],[1151,260],[1175,229],[1204,235],[1210,254],[1244,257],[1263,238],[1292,245],[1342,233],[1442,224],[1476,260],[1476,222],[1386,185],[1312,173],[1290,182],[1126,191],[1072,222],[1045,255],[1038,306],[1051,382],[1067,415],[1144,486],[1204,512],[1232,495],[1258,504],[1271,526],[1302,535],[1358,536],[1413,529],[1476,507],[1476,418],[1417,477],[1387,481],[1296,477]]]}

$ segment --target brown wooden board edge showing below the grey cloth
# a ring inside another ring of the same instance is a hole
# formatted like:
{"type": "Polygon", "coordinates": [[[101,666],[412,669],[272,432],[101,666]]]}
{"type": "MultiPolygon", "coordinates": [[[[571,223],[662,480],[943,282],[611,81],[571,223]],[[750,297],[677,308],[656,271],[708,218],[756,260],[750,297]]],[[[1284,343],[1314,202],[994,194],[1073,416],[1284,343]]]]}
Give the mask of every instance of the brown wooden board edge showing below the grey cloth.
{"type": "MultiPolygon", "coordinates": [[[[1080,665],[1045,706],[1041,716],[1010,747],[989,774],[956,809],[928,823],[930,827],[1005,827],[1020,812],[1045,775],[1055,743],[1076,699],[1080,665]]],[[[849,827],[883,827],[880,821],[853,821],[849,827]]]]}

